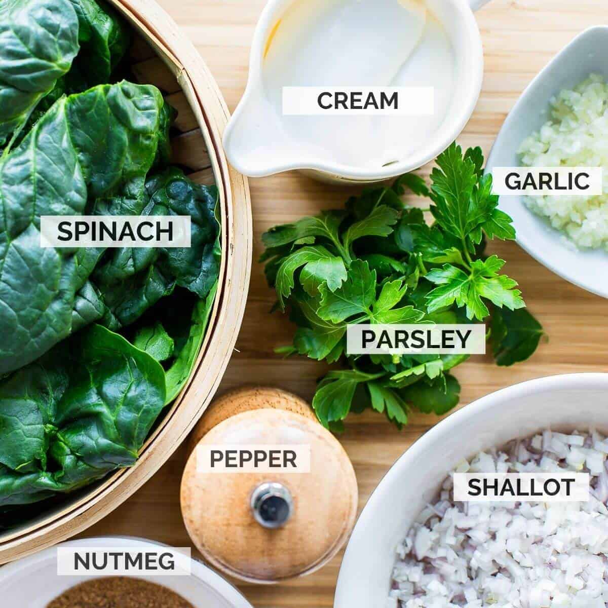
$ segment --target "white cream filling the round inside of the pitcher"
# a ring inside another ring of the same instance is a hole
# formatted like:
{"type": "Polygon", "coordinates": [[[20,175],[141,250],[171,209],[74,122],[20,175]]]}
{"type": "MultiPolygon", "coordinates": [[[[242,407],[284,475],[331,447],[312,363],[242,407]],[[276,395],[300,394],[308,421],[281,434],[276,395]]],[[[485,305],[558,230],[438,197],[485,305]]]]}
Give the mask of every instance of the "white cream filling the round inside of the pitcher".
{"type": "MultiPolygon", "coordinates": [[[[262,68],[278,115],[286,86],[429,86],[430,116],[283,116],[292,142],[319,159],[385,165],[435,131],[446,113],[453,74],[443,27],[417,0],[298,0],[269,38],[262,68]]],[[[424,108],[422,108],[424,111],[424,108]]]]}

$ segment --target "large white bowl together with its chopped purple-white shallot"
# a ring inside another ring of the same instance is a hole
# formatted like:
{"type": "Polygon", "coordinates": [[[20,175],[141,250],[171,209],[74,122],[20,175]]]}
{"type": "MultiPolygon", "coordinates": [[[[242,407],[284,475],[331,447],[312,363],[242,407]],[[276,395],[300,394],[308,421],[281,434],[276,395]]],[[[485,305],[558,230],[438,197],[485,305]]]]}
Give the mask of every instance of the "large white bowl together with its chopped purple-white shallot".
{"type": "Polygon", "coordinates": [[[438,423],[371,495],[334,608],[605,608],[607,396],[608,374],[551,376],[438,423]],[[589,474],[589,499],[454,502],[455,471],[589,474]]]}

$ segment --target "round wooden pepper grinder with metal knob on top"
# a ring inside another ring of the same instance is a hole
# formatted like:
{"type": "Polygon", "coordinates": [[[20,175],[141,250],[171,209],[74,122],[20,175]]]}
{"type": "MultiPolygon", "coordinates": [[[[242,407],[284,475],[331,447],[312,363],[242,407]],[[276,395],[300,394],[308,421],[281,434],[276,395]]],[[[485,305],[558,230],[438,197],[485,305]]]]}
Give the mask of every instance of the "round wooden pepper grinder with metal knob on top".
{"type": "Polygon", "coordinates": [[[353,466],[308,403],[291,393],[247,387],[221,396],[194,430],[190,449],[184,522],[203,557],[228,575],[258,583],[308,575],[353,529],[353,466]],[[310,472],[197,472],[197,445],[309,445],[310,472]]]}

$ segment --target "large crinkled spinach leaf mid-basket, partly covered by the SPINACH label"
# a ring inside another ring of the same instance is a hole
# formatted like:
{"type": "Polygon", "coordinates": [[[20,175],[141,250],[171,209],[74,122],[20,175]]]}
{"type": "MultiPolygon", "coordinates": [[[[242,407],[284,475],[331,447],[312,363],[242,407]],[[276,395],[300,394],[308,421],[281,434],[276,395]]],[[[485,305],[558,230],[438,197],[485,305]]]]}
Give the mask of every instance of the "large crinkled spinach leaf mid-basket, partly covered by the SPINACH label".
{"type": "MultiPolygon", "coordinates": [[[[61,98],[0,160],[0,374],[69,336],[103,252],[41,247],[40,216],[84,214],[95,199],[143,207],[162,104],[156,88],[126,82],[61,98]]],[[[95,305],[86,311],[77,326],[94,320],[95,305]]]]}

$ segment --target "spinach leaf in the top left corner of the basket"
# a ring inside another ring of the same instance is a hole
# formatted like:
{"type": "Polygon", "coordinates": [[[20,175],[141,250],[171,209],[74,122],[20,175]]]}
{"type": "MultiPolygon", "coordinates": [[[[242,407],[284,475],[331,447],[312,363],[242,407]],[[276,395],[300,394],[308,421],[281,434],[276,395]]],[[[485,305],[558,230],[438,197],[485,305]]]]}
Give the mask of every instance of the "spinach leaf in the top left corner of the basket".
{"type": "Polygon", "coordinates": [[[19,143],[62,95],[108,83],[131,37],[103,2],[5,0],[0,40],[1,146],[11,134],[19,143]]]}

